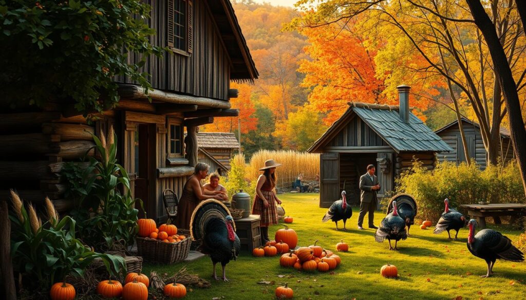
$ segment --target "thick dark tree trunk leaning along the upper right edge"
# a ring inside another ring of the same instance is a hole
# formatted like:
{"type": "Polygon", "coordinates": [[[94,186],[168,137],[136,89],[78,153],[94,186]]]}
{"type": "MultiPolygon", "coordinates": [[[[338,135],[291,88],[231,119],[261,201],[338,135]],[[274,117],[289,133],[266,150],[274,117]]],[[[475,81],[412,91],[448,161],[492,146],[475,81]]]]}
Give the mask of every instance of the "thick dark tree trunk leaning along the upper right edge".
{"type": "MultiPolygon", "coordinates": [[[[466,2],[469,5],[475,24],[479,27],[486,43],[488,44],[495,73],[499,74],[499,82],[502,91],[504,92],[504,100],[506,102],[510,119],[511,140],[519,163],[524,192],[526,193],[526,128],[524,128],[524,120],[522,119],[517,86],[515,85],[513,74],[511,73],[508,58],[504,53],[499,36],[495,31],[495,25],[491,22],[488,14],[484,11],[484,7],[480,3],[480,0],[466,0],[466,2]]],[[[519,2],[522,1],[516,2],[519,6],[519,2]]],[[[522,22],[524,23],[526,20],[522,19],[522,22]]]]}

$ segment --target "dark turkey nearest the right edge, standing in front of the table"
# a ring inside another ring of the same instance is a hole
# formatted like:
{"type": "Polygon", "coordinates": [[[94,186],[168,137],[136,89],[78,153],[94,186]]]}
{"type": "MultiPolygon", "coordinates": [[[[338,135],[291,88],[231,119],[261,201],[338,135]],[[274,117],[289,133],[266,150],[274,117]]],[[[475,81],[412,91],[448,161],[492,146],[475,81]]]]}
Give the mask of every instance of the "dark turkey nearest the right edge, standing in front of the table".
{"type": "Polygon", "coordinates": [[[469,220],[468,250],[488,264],[488,273],[481,277],[493,275],[493,265],[497,258],[512,262],[524,261],[524,254],[511,244],[507,236],[491,229],[483,229],[475,234],[475,227],[477,221],[469,220]]]}

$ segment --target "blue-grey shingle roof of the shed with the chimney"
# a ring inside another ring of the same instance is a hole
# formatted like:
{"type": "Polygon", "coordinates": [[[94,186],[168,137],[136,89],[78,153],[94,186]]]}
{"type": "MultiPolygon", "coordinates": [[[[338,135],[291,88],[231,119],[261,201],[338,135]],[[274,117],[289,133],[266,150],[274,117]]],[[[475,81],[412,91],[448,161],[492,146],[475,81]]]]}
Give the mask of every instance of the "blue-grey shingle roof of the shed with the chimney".
{"type": "Polygon", "coordinates": [[[319,150],[326,142],[326,136],[346,122],[352,112],[374,130],[396,152],[403,151],[453,151],[422,120],[409,113],[409,123],[399,117],[398,106],[371,105],[360,102],[349,103],[349,108],[323,135],[310,147],[308,152],[319,150]]]}

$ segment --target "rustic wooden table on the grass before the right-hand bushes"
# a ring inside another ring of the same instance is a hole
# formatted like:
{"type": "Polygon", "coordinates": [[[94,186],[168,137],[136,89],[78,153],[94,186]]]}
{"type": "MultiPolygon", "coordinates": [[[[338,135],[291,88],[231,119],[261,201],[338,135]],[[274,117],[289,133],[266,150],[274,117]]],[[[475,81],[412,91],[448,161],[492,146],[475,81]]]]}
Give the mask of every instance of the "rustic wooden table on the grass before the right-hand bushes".
{"type": "Polygon", "coordinates": [[[463,204],[461,208],[468,210],[471,218],[477,218],[480,229],[486,227],[485,217],[491,216],[495,224],[500,224],[500,217],[511,216],[510,224],[514,224],[521,216],[526,216],[526,204],[502,203],[502,204],[463,204]]]}

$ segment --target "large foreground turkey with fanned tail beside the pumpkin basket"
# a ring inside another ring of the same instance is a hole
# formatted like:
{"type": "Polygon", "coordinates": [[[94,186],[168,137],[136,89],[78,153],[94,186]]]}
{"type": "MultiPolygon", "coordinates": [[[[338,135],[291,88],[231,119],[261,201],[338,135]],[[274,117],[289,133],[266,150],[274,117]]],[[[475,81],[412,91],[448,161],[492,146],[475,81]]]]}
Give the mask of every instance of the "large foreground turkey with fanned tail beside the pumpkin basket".
{"type": "Polygon", "coordinates": [[[199,251],[210,255],[214,264],[213,277],[216,276],[216,264],[221,263],[224,281],[229,281],[225,266],[230,260],[236,260],[241,243],[235,232],[235,224],[228,209],[221,202],[209,199],[199,203],[190,219],[190,231],[194,240],[201,240],[199,251]]]}

